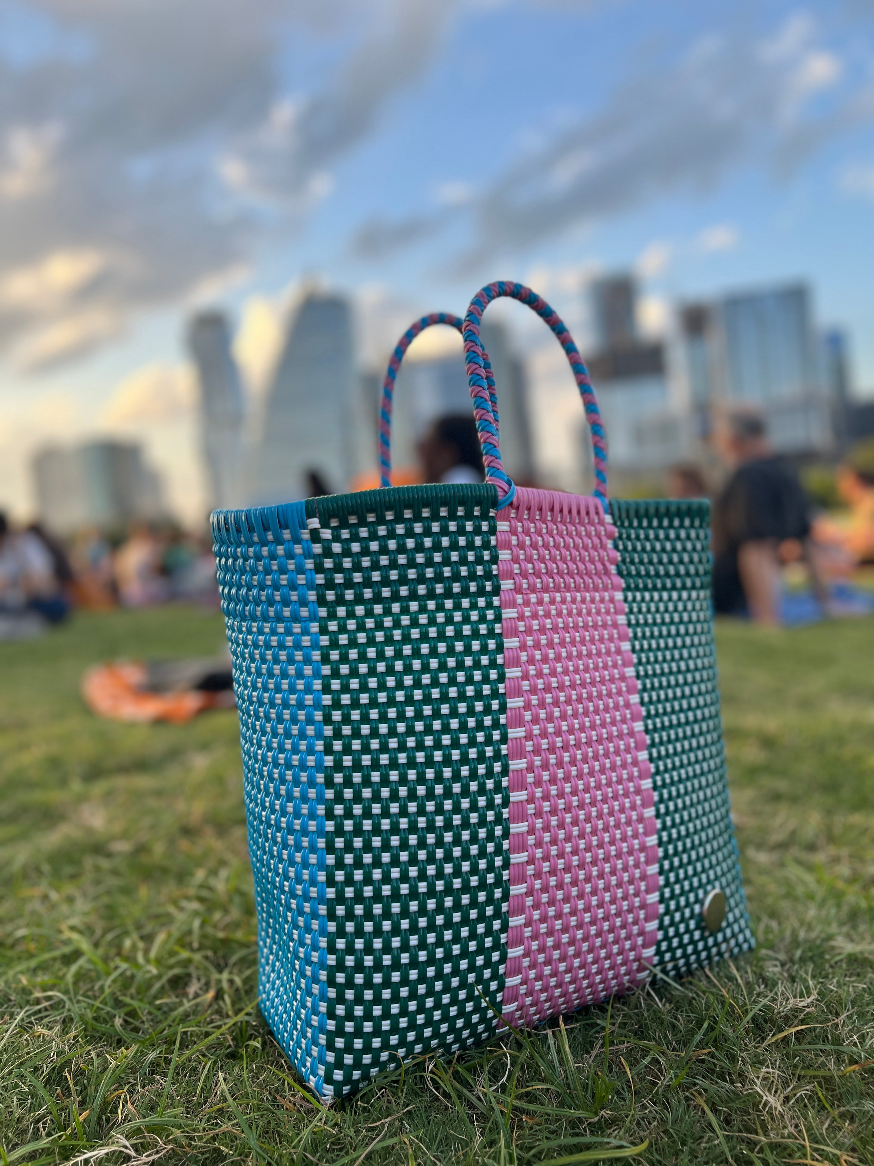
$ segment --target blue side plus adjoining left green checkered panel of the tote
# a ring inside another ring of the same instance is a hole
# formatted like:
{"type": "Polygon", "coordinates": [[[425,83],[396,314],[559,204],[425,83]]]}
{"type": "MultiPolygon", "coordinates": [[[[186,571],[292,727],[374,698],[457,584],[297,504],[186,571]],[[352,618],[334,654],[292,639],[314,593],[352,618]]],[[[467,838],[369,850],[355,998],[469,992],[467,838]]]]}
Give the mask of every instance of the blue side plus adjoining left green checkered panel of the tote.
{"type": "Polygon", "coordinates": [[[416,486],[213,515],[261,1009],[324,1096],[498,1024],[495,504],[491,486],[416,486]]]}

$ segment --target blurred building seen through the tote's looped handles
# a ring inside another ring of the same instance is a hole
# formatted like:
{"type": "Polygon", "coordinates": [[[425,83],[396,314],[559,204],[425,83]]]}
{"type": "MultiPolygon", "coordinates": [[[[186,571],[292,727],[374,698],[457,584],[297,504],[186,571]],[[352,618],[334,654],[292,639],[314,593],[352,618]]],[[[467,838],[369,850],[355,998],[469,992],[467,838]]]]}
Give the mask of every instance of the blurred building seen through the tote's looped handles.
{"type": "MultiPolygon", "coordinates": [[[[503,324],[486,322],[480,337],[488,353],[498,392],[501,458],[509,476],[529,482],[534,476],[528,382],[521,357],[510,347],[503,324]]],[[[380,379],[381,382],[381,379],[380,379]]],[[[401,365],[392,410],[392,461],[400,468],[416,464],[416,442],[437,417],[460,413],[473,416],[464,353],[421,358],[411,349],[401,365]]]]}

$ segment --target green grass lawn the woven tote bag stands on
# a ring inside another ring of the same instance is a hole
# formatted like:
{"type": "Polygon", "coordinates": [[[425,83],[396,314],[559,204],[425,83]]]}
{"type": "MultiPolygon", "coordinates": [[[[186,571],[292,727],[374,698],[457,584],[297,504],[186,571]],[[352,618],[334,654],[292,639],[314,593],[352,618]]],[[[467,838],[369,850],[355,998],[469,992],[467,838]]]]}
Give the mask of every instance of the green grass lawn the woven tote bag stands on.
{"type": "Polygon", "coordinates": [[[94,660],[220,619],[0,645],[0,1163],[874,1161],[874,621],[719,628],[757,951],[322,1108],[260,1019],[237,721],[94,719],[94,660]]]}

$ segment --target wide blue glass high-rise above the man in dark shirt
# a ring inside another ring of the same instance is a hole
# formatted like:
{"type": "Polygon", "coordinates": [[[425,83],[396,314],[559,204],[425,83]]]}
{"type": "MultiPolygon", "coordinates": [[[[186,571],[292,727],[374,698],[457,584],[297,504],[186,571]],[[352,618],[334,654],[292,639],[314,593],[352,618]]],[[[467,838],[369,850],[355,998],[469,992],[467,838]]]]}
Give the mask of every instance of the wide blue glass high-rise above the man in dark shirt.
{"type": "MultiPolygon", "coordinates": [[[[679,314],[689,406],[706,437],[720,405],[748,402],[764,414],[776,450],[827,454],[834,445],[837,352],[824,374],[804,285],[686,304],[679,314]]],[[[844,366],[845,371],[845,366],[844,366]]]]}

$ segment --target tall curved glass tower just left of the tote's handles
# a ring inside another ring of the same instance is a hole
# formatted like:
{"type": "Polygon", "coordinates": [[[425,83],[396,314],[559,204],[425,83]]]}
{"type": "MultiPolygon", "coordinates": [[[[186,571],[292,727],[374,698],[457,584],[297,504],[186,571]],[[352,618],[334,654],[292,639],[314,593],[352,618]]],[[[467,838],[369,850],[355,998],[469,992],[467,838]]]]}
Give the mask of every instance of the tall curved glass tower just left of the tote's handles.
{"type": "Polygon", "coordinates": [[[313,476],[343,492],[354,463],[358,393],[352,312],[338,295],[309,292],[297,310],[268,392],[253,450],[251,493],[260,505],[313,493],[313,476]]]}

